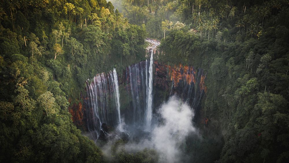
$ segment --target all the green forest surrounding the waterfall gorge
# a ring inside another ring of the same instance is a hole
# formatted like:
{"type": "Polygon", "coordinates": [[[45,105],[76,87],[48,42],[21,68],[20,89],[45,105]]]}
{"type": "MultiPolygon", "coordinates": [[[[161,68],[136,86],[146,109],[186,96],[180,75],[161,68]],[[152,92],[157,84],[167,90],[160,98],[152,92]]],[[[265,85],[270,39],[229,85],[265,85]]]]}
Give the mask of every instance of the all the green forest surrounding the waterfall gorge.
{"type": "Polygon", "coordinates": [[[68,112],[88,79],[148,59],[147,37],[159,64],[203,71],[180,162],[286,162],[288,18],[287,0],[1,0],[0,162],[162,162],[125,139],[108,157],[68,112]]]}

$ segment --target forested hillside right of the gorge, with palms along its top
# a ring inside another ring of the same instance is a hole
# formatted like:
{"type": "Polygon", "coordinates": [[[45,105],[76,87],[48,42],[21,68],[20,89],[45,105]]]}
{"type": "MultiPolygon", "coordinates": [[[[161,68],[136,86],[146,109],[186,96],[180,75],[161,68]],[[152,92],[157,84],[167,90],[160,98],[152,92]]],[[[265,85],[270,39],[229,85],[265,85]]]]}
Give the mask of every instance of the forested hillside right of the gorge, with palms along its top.
{"type": "Polygon", "coordinates": [[[197,123],[213,158],[194,155],[198,148],[191,142],[187,150],[196,162],[288,160],[288,5],[282,0],[119,5],[131,23],[145,24],[150,37],[162,39],[159,61],[207,72],[208,93],[197,123]]]}

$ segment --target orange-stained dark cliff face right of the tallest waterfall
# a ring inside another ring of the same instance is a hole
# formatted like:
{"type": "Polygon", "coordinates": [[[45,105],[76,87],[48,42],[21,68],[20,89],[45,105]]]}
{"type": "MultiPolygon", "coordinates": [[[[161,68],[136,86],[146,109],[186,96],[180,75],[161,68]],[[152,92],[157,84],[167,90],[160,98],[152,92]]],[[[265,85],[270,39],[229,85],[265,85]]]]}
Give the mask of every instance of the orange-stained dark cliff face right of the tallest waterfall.
{"type": "Polygon", "coordinates": [[[154,103],[158,107],[172,95],[181,97],[199,112],[201,99],[207,92],[202,69],[184,65],[163,65],[155,62],[154,103]]]}

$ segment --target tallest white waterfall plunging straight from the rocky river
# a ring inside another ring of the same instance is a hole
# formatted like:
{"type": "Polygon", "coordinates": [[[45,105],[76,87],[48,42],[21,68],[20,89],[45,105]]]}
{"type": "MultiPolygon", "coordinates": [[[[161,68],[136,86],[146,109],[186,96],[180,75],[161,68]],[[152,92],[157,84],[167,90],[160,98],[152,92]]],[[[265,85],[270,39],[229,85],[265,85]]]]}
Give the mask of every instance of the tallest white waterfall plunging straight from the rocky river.
{"type": "MultiPolygon", "coordinates": [[[[147,62],[146,62],[147,63],[147,62]]],[[[147,110],[146,110],[146,124],[147,129],[151,128],[151,118],[153,115],[152,105],[153,105],[153,50],[151,50],[151,59],[149,62],[149,77],[147,84],[147,110]]]]}

